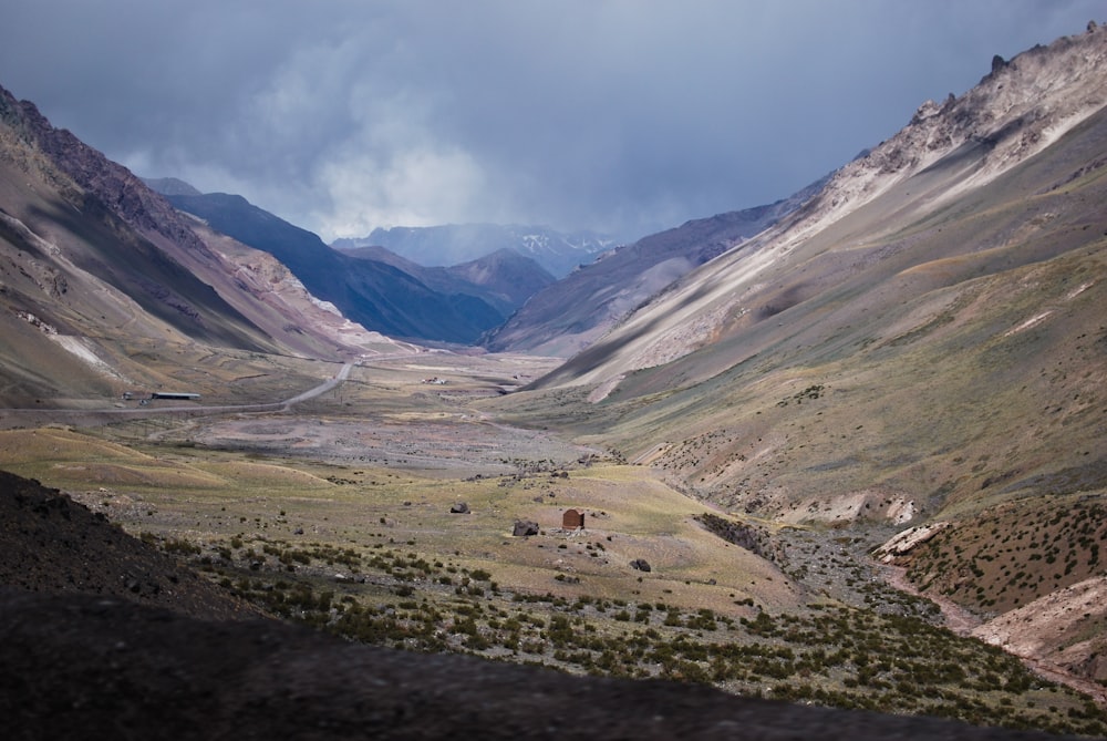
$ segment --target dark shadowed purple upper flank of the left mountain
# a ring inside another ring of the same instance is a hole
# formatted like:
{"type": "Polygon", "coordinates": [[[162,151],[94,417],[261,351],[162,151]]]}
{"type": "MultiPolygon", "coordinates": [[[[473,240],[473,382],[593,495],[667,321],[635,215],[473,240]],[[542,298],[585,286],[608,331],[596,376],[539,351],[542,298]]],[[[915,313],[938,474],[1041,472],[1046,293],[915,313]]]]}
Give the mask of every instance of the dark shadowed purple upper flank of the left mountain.
{"type": "MultiPolygon", "coordinates": [[[[38,282],[52,276],[53,289],[46,291],[51,300],[42,302],[40,316],[56,315],[59,303],[80,298],[69,296],[66,277],[48,267],[60,256],[70,276],[84,274],[101,281],[192,338],[268,347],[256,326],[196,277],[196,263],[215,264],[218,256],[161,196],[68,131],[50,126],[32,104],[17,102],[2,90],[0,124],[6,241],[17,253],[39,258],[35,265],[44,272],[38,282]]],[[[64,319],[56,318],[64,326],[64,319]]]]}

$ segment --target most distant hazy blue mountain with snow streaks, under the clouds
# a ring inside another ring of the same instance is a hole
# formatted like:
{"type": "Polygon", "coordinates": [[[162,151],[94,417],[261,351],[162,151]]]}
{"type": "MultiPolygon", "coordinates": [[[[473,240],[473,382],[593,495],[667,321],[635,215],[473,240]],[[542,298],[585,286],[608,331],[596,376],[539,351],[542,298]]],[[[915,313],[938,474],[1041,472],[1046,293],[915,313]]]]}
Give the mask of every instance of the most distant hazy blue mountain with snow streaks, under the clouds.
{"type": "Polygon", "coordinates": [[[355,239],[338,239],[335,249],[384,247],[424,266],[457,265],[503,249],[529,257],[550,275],[562,278],[587,265],[614,244],[610,237],[590,231],[566,234],[544,226],[500,224],[446,224],[376,228],[355,239]]]}

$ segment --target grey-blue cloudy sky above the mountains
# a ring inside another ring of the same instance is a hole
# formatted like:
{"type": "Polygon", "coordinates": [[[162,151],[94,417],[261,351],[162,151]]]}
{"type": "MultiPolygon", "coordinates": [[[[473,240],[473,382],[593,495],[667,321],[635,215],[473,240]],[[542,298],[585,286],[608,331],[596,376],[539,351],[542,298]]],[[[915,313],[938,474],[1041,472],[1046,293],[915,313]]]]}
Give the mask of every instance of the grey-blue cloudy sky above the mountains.
{"type": "Polygon", "coordinates": [[[769,204],[1107,0],[4,0],[0,86],[324,240],[769,204]]]}

